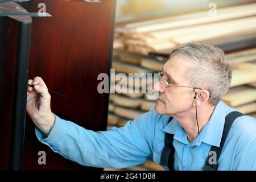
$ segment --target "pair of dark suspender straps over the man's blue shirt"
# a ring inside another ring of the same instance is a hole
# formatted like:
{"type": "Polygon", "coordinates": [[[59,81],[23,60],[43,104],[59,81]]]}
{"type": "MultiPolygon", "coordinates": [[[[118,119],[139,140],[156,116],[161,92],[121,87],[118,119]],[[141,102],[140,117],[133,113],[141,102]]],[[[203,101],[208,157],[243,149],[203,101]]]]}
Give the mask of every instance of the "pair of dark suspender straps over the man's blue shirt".
{"type": "MultiPolygon", "coordinates": [[[[226,137],[228,136],[230,127],[232,126],[234,120],[238,117],[241,117],[243,114],[238,112],[238,111],[233,111],[226,115],[225,118],[225,124],[224,124],[224,129],[222,132],[222,137],[221,137],[221,143],[220,147],[212,146],[210,148],[210,151],[215,151],[216,152],[216,162],[218,162],[218,159],[220,158],[220,154],[222,151],[222,147],[224,146],[226,137]]],[[[172,117],[169,118],[168,123],[172,120],[172,117]]],[[[160,165],[162,166],[168,166],[168,168],[172,171],[174,171],[174,152],[175,148],[172,144],[174,141],[174,135],[166,133],[164,137],[164,148],[161,154],[160,158],[160,165]]],[[[203,170],[204,171],[216,171],[218,168],[218,164],[210,164],[209,159],[212,155],[208,155],[207,160],[205,161],[203,170]]]]}

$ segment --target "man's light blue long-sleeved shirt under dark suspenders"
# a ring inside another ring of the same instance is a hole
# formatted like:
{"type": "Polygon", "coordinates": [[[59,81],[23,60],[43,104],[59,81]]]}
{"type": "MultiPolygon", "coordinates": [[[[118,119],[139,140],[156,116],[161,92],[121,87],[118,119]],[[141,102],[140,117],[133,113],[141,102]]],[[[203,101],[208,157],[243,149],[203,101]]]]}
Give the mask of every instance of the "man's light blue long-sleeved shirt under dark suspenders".
{"type": "MultiPolygon", "coordinates": [[[[146,162],[160,162],[164,134],[174,134],[175,170],[202,170],[211,146],[220,146],[225,116],[234,111],[219,102],[207,124],[195,140],[176,119],[160,115],[154,107],[129,121],[124,127],[92,131],[55,115],[55,124],[47,138],[36,129],[40,142],[65,158],[91,167],[126,168],[146,162]]],[[[165,169],[168,170],[166,166],[165,169]]],[[[248,115],[237,118],[226,138],[218,170],[256,170],[256,121],[248,115]]]]}

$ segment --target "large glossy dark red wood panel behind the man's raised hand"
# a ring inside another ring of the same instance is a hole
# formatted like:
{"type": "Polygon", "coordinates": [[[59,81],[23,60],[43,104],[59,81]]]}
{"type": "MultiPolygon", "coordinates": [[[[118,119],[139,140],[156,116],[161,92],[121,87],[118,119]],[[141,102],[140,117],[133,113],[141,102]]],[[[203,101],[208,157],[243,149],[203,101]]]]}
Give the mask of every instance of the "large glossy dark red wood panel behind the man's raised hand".
{"type": "MultiPolygon", "coordinates": [[[[33,18],[29,76],[40,76],[49,90],[69,96],[52,95],[55,114],[86,129],[105,130],[108,95],[97,92],[97,76],[109,69],[114,1],[33,0],[31,11],[42,2],[53,18],[33,18]]],[[[88,169],[39,143],[34,129],[27,119],[24,170],[88,169]],[[46,151],[46,165],[38,164],[39,151],[46,151]]]]}

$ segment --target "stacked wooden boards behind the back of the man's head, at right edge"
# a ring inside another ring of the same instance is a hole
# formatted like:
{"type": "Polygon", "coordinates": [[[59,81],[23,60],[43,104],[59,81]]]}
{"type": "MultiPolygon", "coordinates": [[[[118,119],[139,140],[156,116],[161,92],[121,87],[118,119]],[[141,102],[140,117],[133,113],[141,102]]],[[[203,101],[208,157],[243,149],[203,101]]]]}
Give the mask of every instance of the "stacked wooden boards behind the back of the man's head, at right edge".
{"type": "Polygon", "coordinates": [[[228,93],[222,98],[226,104],[256,118],[256,48],[230,53],[233,76],[228,93]]]}

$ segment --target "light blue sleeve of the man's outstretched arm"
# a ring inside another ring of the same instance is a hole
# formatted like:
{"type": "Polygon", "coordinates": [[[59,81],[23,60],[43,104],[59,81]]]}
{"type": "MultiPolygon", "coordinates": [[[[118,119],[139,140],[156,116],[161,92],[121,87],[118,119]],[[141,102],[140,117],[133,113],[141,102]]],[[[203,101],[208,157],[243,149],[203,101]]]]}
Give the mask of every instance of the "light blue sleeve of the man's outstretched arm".
{"type": "Polygon", "coordinates": [[[37,128],[36,136],[54,152],[84,166],[135,166],[145,162],[152,155],[151,138],[154,129],[148,119],[150,113],[152,111],[139,115],[124,127],[112,127],[108,131],[98,132],[86,130],[55,115],[55,124],[48,137],[44,138],[37,128]]]}

